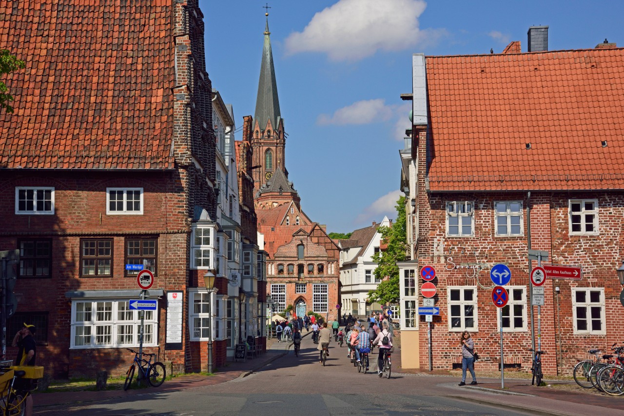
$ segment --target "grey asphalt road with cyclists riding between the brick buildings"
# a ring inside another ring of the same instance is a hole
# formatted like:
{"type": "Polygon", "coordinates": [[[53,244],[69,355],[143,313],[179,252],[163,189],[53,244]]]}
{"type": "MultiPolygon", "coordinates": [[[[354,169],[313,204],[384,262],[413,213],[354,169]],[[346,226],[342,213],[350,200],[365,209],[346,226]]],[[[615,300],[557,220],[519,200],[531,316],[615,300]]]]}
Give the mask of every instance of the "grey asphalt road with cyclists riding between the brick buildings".
{"type": "MultiPolygon", "coordinates": [[[[64,410],[71,416],[113,415],[525,415],[454,397],[458,379],[395,374],[379,379],[359,374],[346,357],[346,347],[330,344],[327,365],[319,364],[311,337],[299,357],[289,354],[255,374],[223,384],[178,392],[157,390],[80,405],[64,410]]],[[[376,369],[371,354],[371,370],[376,369]]],[[[527,398],[528,399],[528,398],[527,398]]]]}

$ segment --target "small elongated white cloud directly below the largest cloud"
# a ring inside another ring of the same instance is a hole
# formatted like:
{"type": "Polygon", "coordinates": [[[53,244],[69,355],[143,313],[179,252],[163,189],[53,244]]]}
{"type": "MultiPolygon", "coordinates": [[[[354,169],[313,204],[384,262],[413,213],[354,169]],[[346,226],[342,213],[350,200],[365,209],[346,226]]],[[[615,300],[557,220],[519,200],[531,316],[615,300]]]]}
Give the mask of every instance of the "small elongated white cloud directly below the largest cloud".
{"type": "Polygon", "coordinates": [[[392,107],[383,99],[362,100],[334,111],[334,114],[321,114],[316,119],[318,125],[328,124],[368,124],[392,118],[392,107]]]}

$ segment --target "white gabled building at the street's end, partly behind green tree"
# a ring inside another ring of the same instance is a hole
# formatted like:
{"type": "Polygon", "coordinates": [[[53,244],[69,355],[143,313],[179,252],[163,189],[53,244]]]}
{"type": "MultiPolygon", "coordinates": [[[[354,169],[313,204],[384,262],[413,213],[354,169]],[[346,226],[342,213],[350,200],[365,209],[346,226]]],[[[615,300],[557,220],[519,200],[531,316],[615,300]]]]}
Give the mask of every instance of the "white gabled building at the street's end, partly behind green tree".
{"type": "Polygon", "coordinates": [[[392,221],[384,217],[380,224],[353,231],[351,238],[341,239],[340,247],[340,283],[341,283],[341,311],[343,314],[364,316],[371,311],[381,311],[378,303],[367,302],[368,293],[381,283],[375,278],[377,263],[373,261],[373,254],[379,253],[381,234],[379,226],[391,226],[392,221]]]}

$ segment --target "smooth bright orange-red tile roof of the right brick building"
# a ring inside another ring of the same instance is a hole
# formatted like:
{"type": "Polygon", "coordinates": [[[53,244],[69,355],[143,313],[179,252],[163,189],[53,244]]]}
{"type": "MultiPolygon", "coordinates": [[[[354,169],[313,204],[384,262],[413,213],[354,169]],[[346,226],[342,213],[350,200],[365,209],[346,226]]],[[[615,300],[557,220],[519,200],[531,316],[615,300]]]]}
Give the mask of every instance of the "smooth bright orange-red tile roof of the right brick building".
{"type": "Polygon", "coordinates": [[[432,191],[624,188],[624,49],[433,56],[426,70],[432,191]]]}

